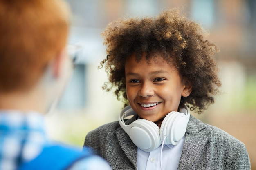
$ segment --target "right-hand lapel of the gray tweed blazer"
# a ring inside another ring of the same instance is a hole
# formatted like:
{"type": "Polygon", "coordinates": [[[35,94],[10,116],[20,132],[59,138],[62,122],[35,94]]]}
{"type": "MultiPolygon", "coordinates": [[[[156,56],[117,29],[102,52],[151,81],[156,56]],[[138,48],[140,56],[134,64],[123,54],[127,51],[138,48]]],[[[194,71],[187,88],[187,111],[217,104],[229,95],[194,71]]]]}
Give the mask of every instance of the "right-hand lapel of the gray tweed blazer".
{"type": "Polygon", "coordinates": [[[205,133],[204,128],[205,125],[202,121],[193,116],[190,117],[178,170],[189,170],[204,149],[207,143],[207,135],[203,135],[205,133]]]}

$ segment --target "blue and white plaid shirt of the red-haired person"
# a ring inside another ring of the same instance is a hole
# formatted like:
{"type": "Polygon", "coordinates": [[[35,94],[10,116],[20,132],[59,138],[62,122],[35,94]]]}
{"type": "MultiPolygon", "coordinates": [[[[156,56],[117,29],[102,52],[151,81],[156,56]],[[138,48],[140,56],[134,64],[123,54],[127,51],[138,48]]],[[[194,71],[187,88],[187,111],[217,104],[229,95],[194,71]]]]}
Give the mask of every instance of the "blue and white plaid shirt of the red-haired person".
{"type": "MultiPolygon", "coordinates": [[[[43,115],[0,110],[0,170],[16,170],[21,163],[38,156],[45,144],[49,144],[49,140],[43,115]]],[[[108,163],[98,156],[81,159],[70,168],[86,169],[111,170],[108,163]]]]}

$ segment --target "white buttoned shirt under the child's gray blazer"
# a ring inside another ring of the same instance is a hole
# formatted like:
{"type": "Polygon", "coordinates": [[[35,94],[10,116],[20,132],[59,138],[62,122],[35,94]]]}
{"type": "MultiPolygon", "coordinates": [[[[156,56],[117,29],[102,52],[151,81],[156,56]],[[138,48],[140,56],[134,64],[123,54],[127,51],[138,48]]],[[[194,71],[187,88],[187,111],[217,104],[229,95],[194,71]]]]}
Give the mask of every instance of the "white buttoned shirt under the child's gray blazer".
{"type": "MultiPolygon", "coordinates": [[[[162,150],[162,170],[177,170],[184,139],[185,137],[175,146],[164,144],[162,150]]],[[[161,170],[160,152],[161,145],[151,152],[145,152],[138,148],[138,170],[161,170]]]]}

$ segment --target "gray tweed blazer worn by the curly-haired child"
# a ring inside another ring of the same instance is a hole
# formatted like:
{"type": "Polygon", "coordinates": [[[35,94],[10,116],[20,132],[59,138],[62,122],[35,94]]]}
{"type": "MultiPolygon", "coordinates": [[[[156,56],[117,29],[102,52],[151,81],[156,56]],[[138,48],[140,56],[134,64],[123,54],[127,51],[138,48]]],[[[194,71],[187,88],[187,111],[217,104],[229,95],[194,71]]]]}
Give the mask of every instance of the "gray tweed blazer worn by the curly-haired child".
{"type": "MultiPolygon", "coordinates": [[[[84,145],[106,159],[113,170],[137,170],[137,147],[118,121],[89,132],[84,145]]],[[[242,142],[191,116],[178,170],[250,170],[250,161],[242,142]]]]}

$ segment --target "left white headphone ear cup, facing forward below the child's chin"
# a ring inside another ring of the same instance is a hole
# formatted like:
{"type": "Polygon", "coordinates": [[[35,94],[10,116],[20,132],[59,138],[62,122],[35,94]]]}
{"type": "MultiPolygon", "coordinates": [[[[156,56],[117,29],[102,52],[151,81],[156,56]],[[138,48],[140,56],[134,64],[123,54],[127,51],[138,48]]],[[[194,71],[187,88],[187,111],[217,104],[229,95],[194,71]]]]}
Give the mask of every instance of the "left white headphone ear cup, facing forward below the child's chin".
{"type": "Polygon", "coordinates": [[[130,126],[130,139],[141,150],[151,152],[161,145],[160,128],[152,121],[138,119],[132,122],[130,126]]]}

